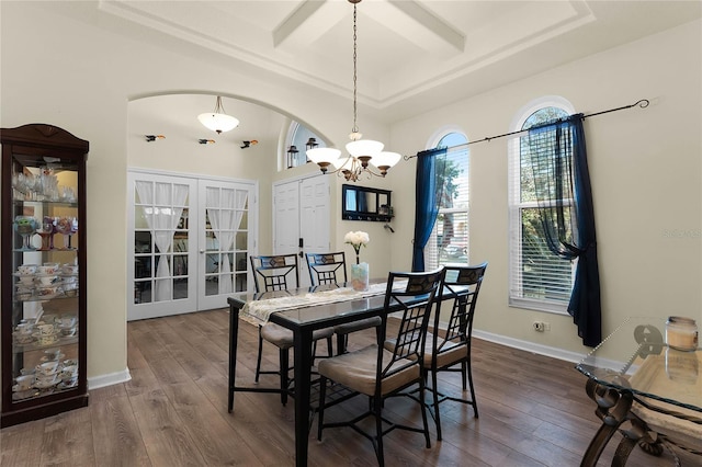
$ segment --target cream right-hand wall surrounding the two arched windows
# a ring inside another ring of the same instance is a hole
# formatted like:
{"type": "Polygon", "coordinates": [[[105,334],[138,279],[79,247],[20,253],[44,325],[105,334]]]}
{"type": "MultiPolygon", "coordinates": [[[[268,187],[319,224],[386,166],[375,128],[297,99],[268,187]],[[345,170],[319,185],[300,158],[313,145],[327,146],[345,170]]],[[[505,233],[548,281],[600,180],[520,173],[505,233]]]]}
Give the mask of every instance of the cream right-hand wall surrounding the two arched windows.
{"type": "MultiPolygon", "coordinates": [[[[561,95],[585,114],[652,100],[646,110],[586,119],[603,333],[632,315],[702,322],[701,32],[701,22],[689,23],[398,123],[393,145],[416,152],[449,124],[469,140],[507,133],[517,112],[542,95],[561,95]]],[[[471,146],[471,262],[489,261],[476,328],[582,353],[570,317],[507,305],[507,145],[505,138],[471,146]],[[534,320],[552,330],[533,331],[534,320]]],[[[415,163],[404,164],[394,175],[414,171],[415,163]]],[[[394,195],[414,200],[414,185],[396,184],[394,195]]],[[[400,254],[411,239],[406,210],[397,219],[403,240],[393,244],[399,269],[411,264],[400,254]]]]}

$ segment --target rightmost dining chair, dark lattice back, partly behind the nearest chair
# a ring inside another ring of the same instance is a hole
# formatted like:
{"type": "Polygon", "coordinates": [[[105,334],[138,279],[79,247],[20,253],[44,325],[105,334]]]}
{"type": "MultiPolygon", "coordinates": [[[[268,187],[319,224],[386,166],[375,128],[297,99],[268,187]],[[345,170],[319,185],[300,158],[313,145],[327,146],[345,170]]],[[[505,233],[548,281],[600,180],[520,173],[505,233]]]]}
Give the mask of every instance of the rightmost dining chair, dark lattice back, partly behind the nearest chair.
{"type": "MultiPolygon", "coordinates": [[[[439,403],[453,400],[473,406],[473,414],[478,418],[478,406],[471,369],[471,342],[475,307],[486,269],[487,262],[474,266],[445,266],[444,269],[443,296],[446,297],[445,301],[450,303],[451,306],[451,312],[448,316],[449,322],[445,331],[440,334],[441,312],[439,308],[434,310],[433,332],[427,332],[424,358],[422,361],[424,379],[431,374],[430,389],[433,403],[430,413],[437,424],[438,441],[441,441],[439,403]],[[461,366],[456,366],[458,364],[461,366]],[[437,378],[439,372],[461,372],[463,391],[465,392],[469,387],[471,398],[465,399],[442,394],[439,390],[437,378]]],[[[395,340],[386,341],[386,349],[392,350],[396,342],[395,340]]],[[[423,400],[423,398],[420,400],[423,400]]]]}

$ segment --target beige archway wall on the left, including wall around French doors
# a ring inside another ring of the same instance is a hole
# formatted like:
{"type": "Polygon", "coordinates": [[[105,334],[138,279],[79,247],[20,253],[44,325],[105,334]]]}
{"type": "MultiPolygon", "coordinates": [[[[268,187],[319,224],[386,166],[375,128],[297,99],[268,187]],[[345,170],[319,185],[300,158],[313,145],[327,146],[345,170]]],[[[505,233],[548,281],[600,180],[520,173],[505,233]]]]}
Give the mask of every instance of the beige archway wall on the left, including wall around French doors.
{"type": "MultiPolygon", "coordinates": [[[[306,84],[282,83],[274,76],[270,80],[248,78],[238,72],[246,71],[246,64],[225,60],[226,66],[212,66],[201,59],[201,50],[186,45],[182,54],[165,52],[141,41],[138,34],[123,36],[113,32],[112,23],[94,18],[93,8],[93,2],[0,2],[0,126],[49,123],[90,141],[88,219],[83,231],[89,248],[88,376],[95,380],[109,379],[110,375],[118,378],[126,369],[126,300],[132,294],[126,284],[125,232],[120,226],[126,225],[127,167],[259,176],[260,206],[271,205],[272,181],[288,176],[264,174],[259,171],[260,166],[252,168],[244,158],[229,158],[227,164],[224,155],[217,155],[215,163],[203,164],[192,159],[190,147],[172,147],[173,152],[155,158],[131,153],[143,135],[129,133],[129,103],[182,92],[241,98],[294,116],[329,140],[339,141],[340,147],[346,143],[350,122],[346,100],[306,84]],[[310,99],[312,94],[316,98],[310,99]],[[309,102],[325,105],[313,106],[309,102]]],[[[364,124],[374,128],[374,137],[387,139],[387,129],[371,119],[364,124]]],[[[166,141],[169,140],[176,139],[166,141]]],[[[312,167],[303,168],[293,171],[293,176],[314,172],[312,167]]],[[[385,187],[384,183],[381,186],[385,187]]],[[[336,193],[340,193],[340,183],[336,193]]],[[[335,215],[338,220],[332,226],[333,238],[351,229],[367,229],[373,236],[369,252],[387,258],[389,239],[383,240],[376,226],[360,227],[359,223],[339,217],[335,215]]],[[[261,213],[260,231],[261,249],[270,249],[270,212],[261,213]]],[[[341,239],[337,242],[337,248],[344,247],[341,239]]],[[[378,261],[374,269],[386,272],[389,260],[378,261]]]]}

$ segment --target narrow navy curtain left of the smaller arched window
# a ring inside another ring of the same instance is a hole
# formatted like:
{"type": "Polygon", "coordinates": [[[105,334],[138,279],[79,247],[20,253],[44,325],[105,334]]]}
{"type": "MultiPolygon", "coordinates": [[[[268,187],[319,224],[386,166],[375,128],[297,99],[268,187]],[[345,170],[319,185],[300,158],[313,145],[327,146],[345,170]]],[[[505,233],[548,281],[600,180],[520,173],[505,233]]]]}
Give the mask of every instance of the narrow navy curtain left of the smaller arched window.
{"type": "MultiPolygon", "coordinates": [[[[437,157],[446,155],[446,148],[428,149],[417,153],[415,182],[415,238],[412,240],[412,272],[424,271],[424,247],[439,214],[443,184],[437,184],[437,157]]],[[[446,164],[442,164],[446,167],[446,164]]],[[[443,180],[443,176],[441,176],[443,180]]]]}

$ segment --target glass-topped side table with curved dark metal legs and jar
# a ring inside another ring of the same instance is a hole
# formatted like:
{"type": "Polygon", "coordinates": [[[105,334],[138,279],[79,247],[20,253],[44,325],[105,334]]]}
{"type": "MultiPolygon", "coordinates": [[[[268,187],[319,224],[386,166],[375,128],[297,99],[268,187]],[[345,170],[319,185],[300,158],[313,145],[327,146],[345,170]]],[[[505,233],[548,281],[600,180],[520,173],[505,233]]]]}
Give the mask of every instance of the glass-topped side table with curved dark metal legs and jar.
{"type": "Polygon", "coordinates": [[[664,443],[673,455],[702,455],[702,350],[671,349],[665,337],[666,320],[629,318],[576,365],[602,420],[581,466],[596,466],[616,431],[623,438],[612,465],[626,464],[637,443],[652,455],[664,443]]]}

